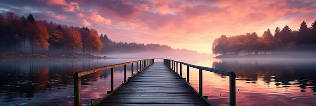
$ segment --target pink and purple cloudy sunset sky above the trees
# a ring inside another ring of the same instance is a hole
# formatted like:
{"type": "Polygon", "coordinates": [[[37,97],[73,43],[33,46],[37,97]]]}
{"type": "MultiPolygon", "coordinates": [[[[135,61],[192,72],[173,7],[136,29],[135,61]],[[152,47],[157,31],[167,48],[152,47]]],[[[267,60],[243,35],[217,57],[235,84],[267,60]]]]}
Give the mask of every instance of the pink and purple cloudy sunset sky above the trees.
{"type": "Polygon", "coordinates": [[[234,36],[316,20],[314,0],[1,0],[0,13],[93,28],[112,41],[166,44],[212,54],[221,35],[234,36]]]}

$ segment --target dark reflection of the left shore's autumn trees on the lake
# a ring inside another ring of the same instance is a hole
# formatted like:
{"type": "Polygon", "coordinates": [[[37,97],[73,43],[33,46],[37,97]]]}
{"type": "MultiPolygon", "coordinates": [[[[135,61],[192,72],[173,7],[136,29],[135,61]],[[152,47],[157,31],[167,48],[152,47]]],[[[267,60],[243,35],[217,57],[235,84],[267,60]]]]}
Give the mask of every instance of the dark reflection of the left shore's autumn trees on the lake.
{"type": "MultiPolygon", "coordinates": [[[[0,60],[0,96],[5,102],[15,97],[33,97],[36,92],[46,92],[58,87],[73,85],[73,74],[77,71],[97,67],[93,60],[85,59],[37,59],[0,60]]],[[[95,81],[101,72],[88,76],[95,81]]]]}

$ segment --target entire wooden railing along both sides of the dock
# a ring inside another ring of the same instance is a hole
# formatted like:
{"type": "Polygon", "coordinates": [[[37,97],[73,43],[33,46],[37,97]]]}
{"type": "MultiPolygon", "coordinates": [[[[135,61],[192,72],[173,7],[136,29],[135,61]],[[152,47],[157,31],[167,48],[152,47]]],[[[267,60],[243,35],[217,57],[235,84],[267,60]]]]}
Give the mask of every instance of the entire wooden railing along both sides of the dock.
{"type": "MultiPolygon", "coordinates": [[[[159,59],[161,60],[161,59],[159,59]]],[[[195,66],[195,65],[191,65],[191,64],[187,64],[187,63],[183,63],[183,62],[178,62],[178,61],[174,61],[174,60],[168,60],[168,59],[163,59],[164,60],[164,64],[166,64],[169,68],[171,68],[171,70],[173,70],[175,73],[179,74],[182,77],[182,65],[186,65],[187,66],[187,77],[186,80],[189,83],[190,82],[190,74],[189,74],[189,67],[192,68],[196,68],[199,69],[199,92],[196,92],[202,96],[203,94],[203,84],[202,84],[202,71],[210,71],[210,72],[214,72],[214,73],[218,73],[221,75],[226,75],[226,76],[230,76],[230,80],[229,80],[229,103],[230,105],[236,105],[236,75],[234,72],[232,71],[226,71],[226,70],[219,70],[219,69],[213,69],[213,68],[208,68],[208,67],[201,67],[201,66],[195,66]],[[178,64],[180,64],[180,73],[178,73],[178,64]]],[[[145,68],[147,68],[148,66],[152,65],[154,63],[154,59],[144,59],[144,60],[139,60],[139,61],[132,61],[132,62],[126,62],[126,63],[121,63],[121,64],[115,64],[115,65],[109,65],[109,66],[103,66],[103,67],[99,67],[99,68],[95,68],[95,69],[90,69],[90,70],[85,70],[85,71],[80,71],[80,72],[76,72],[73,77],[74,77],[74,94],[75,94],[75,98],[74,98],[74,103],[75,105],[81,105],[81,77],[82,76],[86,76],[98,71],[103,71],[106,69],[111,69],[111,91],[109,91],[107,96],[110,96],[110,94],[113,94],[114,91],[117,90],[114,89],[114,68],[119,67],[119,66],[124,66],[124,82],[120,85],[122,86],[124,83],[127,82],[126,79],[126,66],[128,64],[131,64],[131,77],[134,76],[133,73],[133,64],[136,63],[136,72],[139,73],[140,71],[144,70],[145,68]],[[139,64],[138,64],[139,63],[139,64]]],[[[104,100],[106,97],[103,97],[100,101],[104,100]]],[[[97,105],[100,103],[100,101],[98,101],[97,103],[95,103],[94,105],[97,105]]],[[[92,102],[91,102],[92,103],[92,102]]]]}

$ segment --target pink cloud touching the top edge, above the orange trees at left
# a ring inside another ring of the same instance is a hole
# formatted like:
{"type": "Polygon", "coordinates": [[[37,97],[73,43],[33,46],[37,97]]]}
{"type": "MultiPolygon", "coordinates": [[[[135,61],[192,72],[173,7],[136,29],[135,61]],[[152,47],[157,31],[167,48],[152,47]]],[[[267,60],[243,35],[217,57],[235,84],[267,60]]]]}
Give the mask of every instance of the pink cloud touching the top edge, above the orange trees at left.
{"type": "Polygon", "coordinates": [[[69,4],[65,0],[48,0],[47,4],[49,6],[62,6],[63,11],[75,12],[75,10],[80,9],[79,4],[75,2],[70,2],[69,4]]]}

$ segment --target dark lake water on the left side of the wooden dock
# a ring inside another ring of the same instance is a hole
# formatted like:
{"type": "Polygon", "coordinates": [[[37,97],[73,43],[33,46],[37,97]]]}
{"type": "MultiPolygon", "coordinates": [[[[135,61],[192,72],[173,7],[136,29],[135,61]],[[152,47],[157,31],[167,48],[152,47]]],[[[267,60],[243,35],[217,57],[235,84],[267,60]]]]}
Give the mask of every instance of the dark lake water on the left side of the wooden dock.
{"type": "MultiPolygon", "coordinates": [[[[73,105],[75,72],[135,60],[0,60],[0,105],[73,105]]],[[[115,86],[122,82],[123,69],[115,68],[115,86]]],[[[109,74],[106,70],[82,77],[83,104],[105,95],[110,88],[109,74]]]]}

